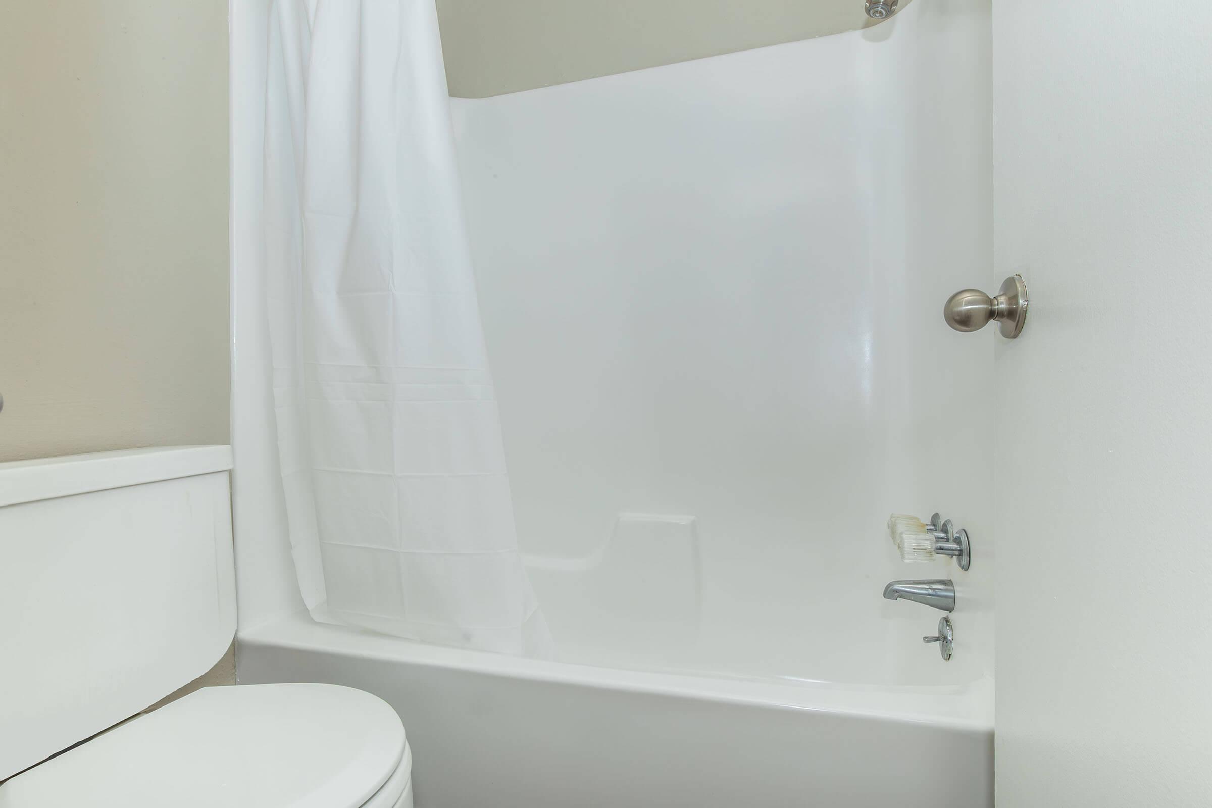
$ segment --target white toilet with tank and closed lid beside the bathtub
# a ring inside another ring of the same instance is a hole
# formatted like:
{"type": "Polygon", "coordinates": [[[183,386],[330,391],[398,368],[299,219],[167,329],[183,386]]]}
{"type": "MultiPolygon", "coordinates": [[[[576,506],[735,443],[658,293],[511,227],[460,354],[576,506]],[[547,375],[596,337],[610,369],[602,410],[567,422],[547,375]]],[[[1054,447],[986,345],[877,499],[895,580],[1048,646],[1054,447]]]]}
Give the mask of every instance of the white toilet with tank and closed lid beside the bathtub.
{"type": "Polygon", "coordinates": [[[225,446],[0,463],[0,808],[412,808],[404,724],[370,693],[143,712],[235,634],[230,468],[225,446]]]}

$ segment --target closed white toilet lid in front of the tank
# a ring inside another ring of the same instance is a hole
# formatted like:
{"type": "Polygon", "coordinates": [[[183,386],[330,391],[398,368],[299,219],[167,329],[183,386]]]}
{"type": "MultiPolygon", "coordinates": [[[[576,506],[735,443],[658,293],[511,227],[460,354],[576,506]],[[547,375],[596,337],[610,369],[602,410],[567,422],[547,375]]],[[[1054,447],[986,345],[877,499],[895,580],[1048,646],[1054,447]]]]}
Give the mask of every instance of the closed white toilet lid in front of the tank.
{"type": "Polygon", "coordinates": [[[362,690],[208,687],[12,778],[0,808],[361,808],[405,749],[395,710],[362,690]]]}

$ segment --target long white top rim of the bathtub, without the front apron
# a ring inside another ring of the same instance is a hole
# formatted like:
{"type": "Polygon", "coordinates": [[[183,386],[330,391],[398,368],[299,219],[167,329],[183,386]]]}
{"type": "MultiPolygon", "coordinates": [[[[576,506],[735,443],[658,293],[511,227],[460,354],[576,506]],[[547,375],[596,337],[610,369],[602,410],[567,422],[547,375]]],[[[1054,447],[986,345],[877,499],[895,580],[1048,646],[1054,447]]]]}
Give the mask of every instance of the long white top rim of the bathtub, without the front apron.
{"type": "Polygon", "coordinates": [[[783,683],[759,678],[616,669],[431,646],[351,626],[316,623],[304,612],[242,628],[236,632],[238,682],[240,658],[263,649],[315,652],[350,659],[446,667],[501,678],[928,724],[968,733],[991,734],[994,729],[994,682],[990,677],[967,684],[937,687],[873,686],[783,683]]]}

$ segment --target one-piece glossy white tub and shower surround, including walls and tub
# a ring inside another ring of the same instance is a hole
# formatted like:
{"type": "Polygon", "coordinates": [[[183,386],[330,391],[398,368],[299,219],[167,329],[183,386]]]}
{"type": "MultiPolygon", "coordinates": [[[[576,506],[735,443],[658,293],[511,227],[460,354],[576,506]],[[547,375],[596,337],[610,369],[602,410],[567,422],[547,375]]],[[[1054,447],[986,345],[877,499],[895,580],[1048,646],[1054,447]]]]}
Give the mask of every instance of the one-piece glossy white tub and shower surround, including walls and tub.
{"type": "Polygon", "coordinates": [[[993,342],[941,316],[995,286],[988,2],[456,102],[550,661],[302,608],[253,383],[267,7],[231,8],[240,681],[388,699],[421,806],[991,804],[993,342]],[[971,572],[896,558],[933,509],[971,572]],[[950,663],[880,597],[947,575],[950,663]]]}

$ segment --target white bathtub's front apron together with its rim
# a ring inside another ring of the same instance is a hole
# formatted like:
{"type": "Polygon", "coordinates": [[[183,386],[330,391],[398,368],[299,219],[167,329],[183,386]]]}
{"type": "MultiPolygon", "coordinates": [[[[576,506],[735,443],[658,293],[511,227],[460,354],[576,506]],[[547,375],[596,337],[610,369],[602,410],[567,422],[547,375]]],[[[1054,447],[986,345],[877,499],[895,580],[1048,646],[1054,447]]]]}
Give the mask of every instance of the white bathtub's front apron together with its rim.
{"type": "Polygon", "coordinates": [[[298,617],[239,636],[242,683],[387,699],[418,808],[993,806],[990,683],[784,684],[481,654],[298,617]]]}

